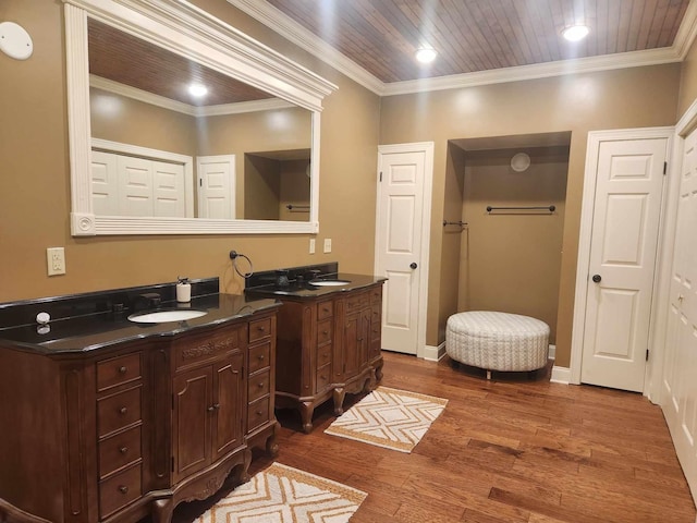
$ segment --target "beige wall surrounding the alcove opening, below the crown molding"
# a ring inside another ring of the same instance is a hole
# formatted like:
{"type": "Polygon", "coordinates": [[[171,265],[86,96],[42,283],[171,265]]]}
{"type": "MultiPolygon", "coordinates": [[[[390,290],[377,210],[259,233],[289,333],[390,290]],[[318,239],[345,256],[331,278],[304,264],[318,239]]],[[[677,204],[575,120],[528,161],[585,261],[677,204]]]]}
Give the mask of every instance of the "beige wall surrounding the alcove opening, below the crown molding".
{"type": "MultiPolygon", "coordinates": [[[[572,132],[557,323],[557,364],[568,366],[588,131],[672,125],[678,82],[680,65],[669,64],[382,99],[381,144],[436,145],[428,344],[444,339],[445,321],[455,312],[448,285],[458,278],[457,264],[442,259],[448,141],[572,132]]],[[[448,252],[452,256],[452,250],[448,252]]]]}

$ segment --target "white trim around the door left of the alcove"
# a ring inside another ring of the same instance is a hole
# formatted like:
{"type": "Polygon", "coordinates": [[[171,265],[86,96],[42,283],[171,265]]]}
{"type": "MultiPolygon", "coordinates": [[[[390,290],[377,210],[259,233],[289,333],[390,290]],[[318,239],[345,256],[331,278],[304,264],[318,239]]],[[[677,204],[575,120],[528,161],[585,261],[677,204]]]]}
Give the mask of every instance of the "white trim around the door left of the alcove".
{"type": "MultiPolygon", "coordinates": [[[[431,198],[433,192],[433,142],[415,142],[409,144],[391,144],[391,145],[378,145],[378,165],[377,165],[377,193],[376,193],[376,231],[375,231],[375,264],[374,273],[378,273],[378,255],[379,255],[379,220],[380,216],[380,200],[382,192],[382,183],[380,183],[380,163],[381,156],[386,154],[399,154],[399,153],[424,153],[424,192],[423,192],[423,220],[421,220],[421,254],[418,262],[418,266],[421,267],[421,273],[425,275],[419,280],[418,288],[418,321],[416,333],[416,357],[431,358],[433,355],[428,351],[426,346],[426,325],[428,317],[428,279],[430,278],[429,270],[429,253],[430,253],[430,230],[431,230],[431,198]]],[[[379,275],[378,275],[379,276],[379,275]]],[[[436,351],[438,352],[438,351],[436,351]]],[[[435,356],[438,357],[437,355],[435,356]]]]}

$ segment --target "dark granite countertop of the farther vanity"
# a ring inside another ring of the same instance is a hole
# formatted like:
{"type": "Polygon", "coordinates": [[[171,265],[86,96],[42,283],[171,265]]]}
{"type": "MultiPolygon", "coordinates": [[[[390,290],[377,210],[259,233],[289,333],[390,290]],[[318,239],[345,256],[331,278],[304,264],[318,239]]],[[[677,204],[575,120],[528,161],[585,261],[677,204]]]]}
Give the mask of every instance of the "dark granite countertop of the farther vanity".
{"type": "Polygon", "coordinates": [[[387,280],[387,278],[381,276],[352,275],[347,272],[322,275],[319,279],[347,280],[348,283],[340,287],[315,287],[307,280],[303,280],[301,283],[298,283],[297,280],[292,280],[286,287],[269,283],[267,285],[247,288],[244,292],[250,297],[292,297],[304,300],[327,296],[338,292],[355,291],[387,280]]]}

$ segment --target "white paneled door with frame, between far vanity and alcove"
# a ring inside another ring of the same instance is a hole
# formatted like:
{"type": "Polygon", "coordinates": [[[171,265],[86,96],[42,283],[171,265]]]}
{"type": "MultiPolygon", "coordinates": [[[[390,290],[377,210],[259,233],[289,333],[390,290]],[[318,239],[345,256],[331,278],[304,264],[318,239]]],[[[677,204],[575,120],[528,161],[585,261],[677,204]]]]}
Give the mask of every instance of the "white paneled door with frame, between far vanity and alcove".
{"type": "Polygon", "coordinates": [[[381,146],[378,170],[376,273],[388,278],[382,348],[417,354],[425,343],[432,144],[381,146]]]}

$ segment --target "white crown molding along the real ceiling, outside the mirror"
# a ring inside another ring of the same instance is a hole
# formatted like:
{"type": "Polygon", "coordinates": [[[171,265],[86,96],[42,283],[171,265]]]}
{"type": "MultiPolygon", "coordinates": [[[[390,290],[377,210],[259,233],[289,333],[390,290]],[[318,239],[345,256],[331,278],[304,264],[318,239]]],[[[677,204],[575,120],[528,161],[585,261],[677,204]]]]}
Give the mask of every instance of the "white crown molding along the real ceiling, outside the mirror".
{"type": "Polygon", "coordinates": [[[384,83],[270,3],[258,0],[228,0],[228,2],[379,96],[455,89],[681,62],[685,59],[697,36],[697,2],[689,2],[672,47],[384,83]]]}

